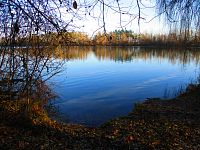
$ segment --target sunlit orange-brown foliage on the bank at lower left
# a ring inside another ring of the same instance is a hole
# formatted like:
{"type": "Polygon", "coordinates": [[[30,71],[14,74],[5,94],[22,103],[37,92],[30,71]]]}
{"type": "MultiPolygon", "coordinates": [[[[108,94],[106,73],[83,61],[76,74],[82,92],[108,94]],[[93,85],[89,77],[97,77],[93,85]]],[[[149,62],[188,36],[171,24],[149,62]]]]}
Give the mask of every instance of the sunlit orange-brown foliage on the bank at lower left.
{"type": "Polygon", "coordinates": [[[0,109],[3,110],[6,115],[14,117],[23,115],[27,120],[30,120],[33,126],[43,126],[61,130],[61,126],[56,121],[49,118],[47,112],[39,101],[36,102],[25,99],[1,101],[0,109]]]}

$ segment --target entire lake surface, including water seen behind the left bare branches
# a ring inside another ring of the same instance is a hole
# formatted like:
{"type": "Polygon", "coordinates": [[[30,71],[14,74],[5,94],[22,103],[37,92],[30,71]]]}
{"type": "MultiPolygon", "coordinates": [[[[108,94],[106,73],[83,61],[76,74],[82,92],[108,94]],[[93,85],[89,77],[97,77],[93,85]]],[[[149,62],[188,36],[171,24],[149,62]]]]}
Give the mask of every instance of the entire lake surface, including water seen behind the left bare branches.
{"type": "Polygon", "coordinates": [[[48,99],[53,77],[63,116],[96,126],[147,97],[174,96],[196,80],[199,60],[198,49],[2,47],[0,99],[48,99]]]}

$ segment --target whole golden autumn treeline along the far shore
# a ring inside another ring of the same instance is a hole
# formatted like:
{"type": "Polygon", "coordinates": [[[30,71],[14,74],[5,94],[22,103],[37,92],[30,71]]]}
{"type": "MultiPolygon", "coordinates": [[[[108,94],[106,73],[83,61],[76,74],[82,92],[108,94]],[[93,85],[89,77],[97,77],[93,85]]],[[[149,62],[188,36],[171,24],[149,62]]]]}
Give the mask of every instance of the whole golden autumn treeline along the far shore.
{"type": "MultiPolygon", "coordinates": [[[[1,45],[5,45],[8,40],[1,38],[1,45]]],[[[28,37],[18,36],[15,44],[18,45],[113,45],[113,46],[200,46],[200,31],[185,31],[179,34],[171,32],[169,34],[137,34],[131,30],[115,30],[109,33],[98,32],[93,37],[83,32],[49,32],[47,34],[32,34],[28,37]]]]}

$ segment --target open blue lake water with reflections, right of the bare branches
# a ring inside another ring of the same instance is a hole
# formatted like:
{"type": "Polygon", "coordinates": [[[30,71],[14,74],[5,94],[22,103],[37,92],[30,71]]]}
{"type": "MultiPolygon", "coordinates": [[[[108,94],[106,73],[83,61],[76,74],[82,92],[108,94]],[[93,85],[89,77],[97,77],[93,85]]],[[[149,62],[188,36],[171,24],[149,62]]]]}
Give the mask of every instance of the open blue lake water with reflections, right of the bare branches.
{"type": "Polygon", "coordinates": [[[54,57],[66,60],[49,81],[61,117],[87,126],[127,115],[146,98],[174,97],[200,71],[200,49],[60,47],[54,57]]]}

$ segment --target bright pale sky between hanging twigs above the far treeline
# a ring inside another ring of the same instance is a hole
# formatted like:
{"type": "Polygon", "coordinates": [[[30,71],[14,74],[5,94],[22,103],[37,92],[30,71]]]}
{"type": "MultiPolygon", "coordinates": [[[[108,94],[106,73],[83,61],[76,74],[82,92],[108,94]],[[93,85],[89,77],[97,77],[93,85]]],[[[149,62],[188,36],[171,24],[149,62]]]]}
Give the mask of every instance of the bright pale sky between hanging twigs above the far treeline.
{"type": "MultiPolygon", "coordinates": [[[[81,1],[77,1],[77,3],[81,4],[81,1]]],[[[94,2],[89,1],[89,3],[94,2]]],[[[120,23],[120,15],[119,13],[116,13],[112,9],[105,7],[105,26],[106,26],[106,31],[113,31],[115,29],[121,29],[121,26],[125,29],[131,29],[136,33],[162,33],[167,31],[167,27],[163,26],[162,21],[159,20],[159,17],[151,20],[156,16],[156,10],[154,6],[154,0],[141,0],[141,17],[144,19],[140,19],[140,27],[138,26],[138,7],[136,4],[136,0],[133,1],[128,1],[128,0],[121,0],[119,1],[120,7],[122,7],[123,10],[128,11],[132,14],[130,17],[129,15],[121,15],[121,23],[120,23]],[[151,8],[145,8],[145,6],[151,7],[151,8]],[[134,19],[134,17],[136,18],[134,19]],[[132,20],[131,23],[130,20],[132,20]],[[150,21],[151,20],[151,21],[150,21]],[[149,22],[150,21],[150,22],[149,22]]],[[[115,0],[105,0],[105,3],[112,5],[114,8],[117,7],[117,3],[115,0]],[[111,2],[111,3],[109,3],[111,2]]],[[[76,25],[81,26],[80,29],[76,29],[78,31],[86,32],[89,35],[92,35],[94,31],[99,29],[102,25],[102,5],[98,3],[92,11],[85,13],[85,11],[88,11],[88,9],[83,8],[77,10],[77,14],[81,17],[82,19],[77,19],[76,20],[76,25]],[[83,14],[86,15],[83,15],[83,14]],[[93,17],[91,17],[93,16],[93,17]],[[95,18],[96,17],[96,18],[95,18]],[[84,27],[82,27],[84,26],[84,27]]],[[[101,28],[98,31],[103,31],[103,28],[101,28]]]]}

